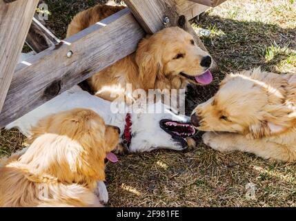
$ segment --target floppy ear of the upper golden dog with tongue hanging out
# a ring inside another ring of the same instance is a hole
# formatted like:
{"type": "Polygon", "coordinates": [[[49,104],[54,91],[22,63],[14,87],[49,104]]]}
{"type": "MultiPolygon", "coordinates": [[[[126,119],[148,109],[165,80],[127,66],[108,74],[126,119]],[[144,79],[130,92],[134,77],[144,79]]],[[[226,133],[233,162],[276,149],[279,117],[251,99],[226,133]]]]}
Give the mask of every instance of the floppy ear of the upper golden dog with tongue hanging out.
{"type": "Polygon", "coordinates": [[[162,75],[163,66],[161,64],[160,53],[157,49],[150,47],[150,40],[143,39],[137,49],[136,62],[139,67],[139,77],[144,90],[155,88],[158,79],[162,75]]]}

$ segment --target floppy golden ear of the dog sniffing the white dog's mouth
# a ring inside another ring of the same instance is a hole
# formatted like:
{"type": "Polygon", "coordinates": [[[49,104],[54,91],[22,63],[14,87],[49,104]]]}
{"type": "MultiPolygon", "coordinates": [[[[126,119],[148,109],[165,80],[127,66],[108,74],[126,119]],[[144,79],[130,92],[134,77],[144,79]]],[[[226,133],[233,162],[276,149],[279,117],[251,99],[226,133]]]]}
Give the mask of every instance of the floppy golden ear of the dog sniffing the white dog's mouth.
{"type": "Polygon", "coordinates": [[[248,136],[251,138],[268,137],[286,131],[293,126],[295,121],[291,113],[292,110],[285,104],[266,105],[259,123],[249,126],[248,136]]]}

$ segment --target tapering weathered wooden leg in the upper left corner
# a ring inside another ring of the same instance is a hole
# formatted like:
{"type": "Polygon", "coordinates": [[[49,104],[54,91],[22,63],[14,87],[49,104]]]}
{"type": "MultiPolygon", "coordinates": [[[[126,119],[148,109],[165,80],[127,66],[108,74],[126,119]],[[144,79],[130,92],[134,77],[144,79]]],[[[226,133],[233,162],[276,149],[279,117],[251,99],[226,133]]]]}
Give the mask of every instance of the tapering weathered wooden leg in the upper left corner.
{"type": "Polygon", "coordinates": [[[0,1],[0,111],[38,1],[0,1]]]}

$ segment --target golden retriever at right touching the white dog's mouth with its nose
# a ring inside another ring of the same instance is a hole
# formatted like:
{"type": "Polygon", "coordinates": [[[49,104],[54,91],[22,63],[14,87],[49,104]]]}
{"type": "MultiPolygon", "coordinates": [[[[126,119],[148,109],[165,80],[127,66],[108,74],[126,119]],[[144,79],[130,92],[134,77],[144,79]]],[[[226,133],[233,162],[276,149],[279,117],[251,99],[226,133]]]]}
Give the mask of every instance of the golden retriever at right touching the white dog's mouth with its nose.
{"type": "Polygon", "coordinates": [[[204,143],[218,151],[246,151],[264,159],[296,160],[296,75],[260,68],[228,75],[216,95],[191,116],[204,143]],[[213,132],[210,132],[213,131],[213,132]]]}

